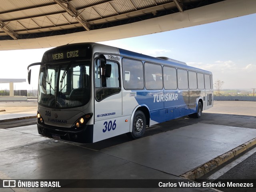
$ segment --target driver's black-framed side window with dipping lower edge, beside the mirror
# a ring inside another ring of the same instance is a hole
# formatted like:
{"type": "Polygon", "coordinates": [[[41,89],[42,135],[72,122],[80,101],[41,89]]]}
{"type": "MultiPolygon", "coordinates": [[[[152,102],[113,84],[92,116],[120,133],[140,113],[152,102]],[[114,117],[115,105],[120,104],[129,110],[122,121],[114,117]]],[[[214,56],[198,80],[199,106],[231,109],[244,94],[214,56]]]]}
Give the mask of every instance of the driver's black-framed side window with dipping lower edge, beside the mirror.
{"type": "Polygon", "coordinates": [[[95,89],[98,101],[120,92],[119,65],[100,59],[95,62],[95,89]]]}

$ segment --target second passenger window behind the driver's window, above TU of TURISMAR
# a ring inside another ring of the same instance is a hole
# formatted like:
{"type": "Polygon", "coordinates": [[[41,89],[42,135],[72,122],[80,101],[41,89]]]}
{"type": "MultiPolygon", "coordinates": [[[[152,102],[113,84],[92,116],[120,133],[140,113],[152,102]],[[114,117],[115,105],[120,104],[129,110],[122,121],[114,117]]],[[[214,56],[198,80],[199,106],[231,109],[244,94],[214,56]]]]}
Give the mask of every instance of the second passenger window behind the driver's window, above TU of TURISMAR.
{"type": "Polygon", "coordinates": [[[162,66],[145,63],[145,82],[146,89],[162,89],[163,88],[163,80],[162,80],[162,66]]]}

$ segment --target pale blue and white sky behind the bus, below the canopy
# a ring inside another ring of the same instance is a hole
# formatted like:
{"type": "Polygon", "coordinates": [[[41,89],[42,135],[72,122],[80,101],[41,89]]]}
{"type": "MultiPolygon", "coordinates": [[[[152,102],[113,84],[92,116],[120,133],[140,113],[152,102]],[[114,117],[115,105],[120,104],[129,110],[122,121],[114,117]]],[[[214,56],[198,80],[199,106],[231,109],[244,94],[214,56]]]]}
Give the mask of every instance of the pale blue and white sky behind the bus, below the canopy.
{"type": "MultiPolygon", "coordinates": [[[[99,43],[209,70],[213,82],[224,82],[223,89],[256,88],[256,14],[99,43]]],[[[27,78],[27,66],[40,62],[48,49],[0,51],[0,78],[27,78]]],[[[31,85],[14,83],[14,89],[37,89],[38,72],[37,66],[32,67],[31,85]]],[[[4,89],[9,85],[0,84],[4,89]]]]}

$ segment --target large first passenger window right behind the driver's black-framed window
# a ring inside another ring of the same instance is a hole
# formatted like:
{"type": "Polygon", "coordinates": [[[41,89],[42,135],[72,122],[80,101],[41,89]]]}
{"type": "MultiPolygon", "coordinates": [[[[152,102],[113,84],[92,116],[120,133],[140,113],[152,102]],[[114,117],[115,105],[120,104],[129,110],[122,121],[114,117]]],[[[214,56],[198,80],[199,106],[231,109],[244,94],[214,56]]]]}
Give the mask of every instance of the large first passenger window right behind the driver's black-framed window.
{"type": "Polygon", "coordinates": [[[125,89],[144,89],[143,64],[141,61],[124,58],[123,82],[125,89]]]}

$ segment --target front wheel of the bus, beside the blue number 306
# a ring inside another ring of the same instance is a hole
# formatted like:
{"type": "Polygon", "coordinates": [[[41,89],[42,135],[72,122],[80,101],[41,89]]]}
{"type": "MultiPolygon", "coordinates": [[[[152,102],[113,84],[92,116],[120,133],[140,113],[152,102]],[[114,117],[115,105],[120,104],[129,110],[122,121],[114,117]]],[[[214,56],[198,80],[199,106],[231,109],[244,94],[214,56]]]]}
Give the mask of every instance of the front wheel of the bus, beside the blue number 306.
{"type": "Polygon", "coordinates": [[[146,116],[142,111],[136,111],[132,120],[132,132],[128,136],[132,139],[142,137],[146,130],[146,116]]]}

